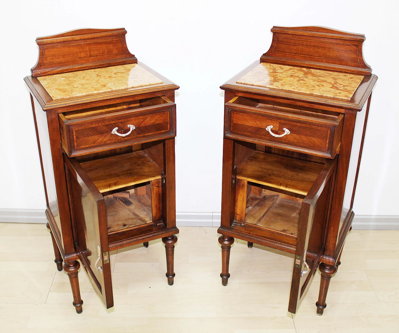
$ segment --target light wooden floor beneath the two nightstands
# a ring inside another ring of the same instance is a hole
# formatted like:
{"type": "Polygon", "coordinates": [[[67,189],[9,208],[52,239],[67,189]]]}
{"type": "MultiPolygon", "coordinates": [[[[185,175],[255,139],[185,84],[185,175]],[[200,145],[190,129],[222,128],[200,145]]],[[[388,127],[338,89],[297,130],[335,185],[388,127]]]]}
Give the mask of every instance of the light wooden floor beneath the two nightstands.
{"type": "Polygon", "coordinates": [[[83,313],[53,262],[43,224],[0,223],[0,331],[16,332],[399,332],[399,231],[352,231],[316,315],[316,273],[296,315],[287,311],[293,259],[231,249],[229,285],[219,277],[216,228],[180,227],[175,284],[168,286],[162,242],[113,253],[115,307],[106,310],[84,271],[83,313]]]}

